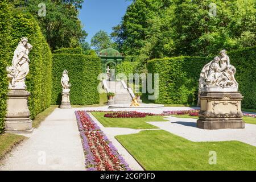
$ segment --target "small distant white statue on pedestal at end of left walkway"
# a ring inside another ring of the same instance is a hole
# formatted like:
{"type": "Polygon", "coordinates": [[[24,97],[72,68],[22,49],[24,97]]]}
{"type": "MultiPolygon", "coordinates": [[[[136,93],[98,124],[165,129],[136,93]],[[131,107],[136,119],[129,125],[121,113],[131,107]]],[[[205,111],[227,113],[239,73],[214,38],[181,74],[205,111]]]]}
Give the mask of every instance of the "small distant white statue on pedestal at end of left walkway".
{"type": "Polygon", "coordinates": [[[68,77],[68,71],[65,69],[62,73],[62,77],[61,77],[61,85],[62,85],[62,100],[61,100],[61,105],[60,108],[61,109],[70,109],[71,108],[71,103],[69,100],[69,96],[70,96],[70,87],[71,84],[69,84],[69,77],[68,77]]]}

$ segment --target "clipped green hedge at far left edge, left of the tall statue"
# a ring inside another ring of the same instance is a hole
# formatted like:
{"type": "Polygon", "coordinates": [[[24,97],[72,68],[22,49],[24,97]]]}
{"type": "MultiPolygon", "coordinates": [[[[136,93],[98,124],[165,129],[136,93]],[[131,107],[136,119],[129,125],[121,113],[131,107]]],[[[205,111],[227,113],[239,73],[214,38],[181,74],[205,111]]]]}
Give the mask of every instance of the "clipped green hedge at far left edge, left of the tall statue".
{"type": "Polygon", "coordinates": [[[10,49],[10,7],[6,0],[0,2],[0,134],[5,128],[6,100],[7,100],[7,60],[11,60],[10,49]]]}

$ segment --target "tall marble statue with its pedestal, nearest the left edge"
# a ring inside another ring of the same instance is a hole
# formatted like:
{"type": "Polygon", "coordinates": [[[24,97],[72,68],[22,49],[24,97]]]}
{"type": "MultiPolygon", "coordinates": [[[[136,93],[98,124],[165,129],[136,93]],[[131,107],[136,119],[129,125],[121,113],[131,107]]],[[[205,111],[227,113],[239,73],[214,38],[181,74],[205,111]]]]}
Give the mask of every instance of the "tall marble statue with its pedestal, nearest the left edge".
{"type": "Polygon", "coordinates": [[[32,46],[28,43],[28,39],[23,37],[14,51],[12,65],[6,68],[9,78],[6,132],[27,133],[33,130],[27,104],[30,92],[27,92],[25,84],[26,76],[30,71],[28,53],[31,49],[32,46]]]}

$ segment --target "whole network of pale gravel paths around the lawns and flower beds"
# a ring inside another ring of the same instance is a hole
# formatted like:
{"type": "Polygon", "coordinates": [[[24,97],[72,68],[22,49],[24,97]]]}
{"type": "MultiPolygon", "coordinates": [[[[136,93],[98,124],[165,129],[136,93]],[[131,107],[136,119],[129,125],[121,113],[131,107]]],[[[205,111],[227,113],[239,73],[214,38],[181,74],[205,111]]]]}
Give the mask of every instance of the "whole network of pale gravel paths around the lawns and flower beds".
{"type": "MultiPolygon", "coordinates": [[[[6,159],[2,160],[1,170],[85,170],[79,130],[75,110],[136,110],[162,113],[167,110],[189,110],[191,107],[164,107],[154,109],[108,109],[102,107],[81,107],[55,109],[39,129],[26,134],[27,140],[19,144],[6,159]]],[[[197,107],[193,107],[197,109],[197,107]]],[[[143,170],[136,160],[114,138],[116,135],[135,134],[141,130],[105,128],[94,118],[107,137],[113,142],[132,169],[143,170]]],[[[245,129],[202,130],[196,128],[196,119],[168,117],[170,122],[148,122],[162,130],[179,135],[195,142],[238,140],[256,146],[256,125],[245,124],[245,129]]]]}

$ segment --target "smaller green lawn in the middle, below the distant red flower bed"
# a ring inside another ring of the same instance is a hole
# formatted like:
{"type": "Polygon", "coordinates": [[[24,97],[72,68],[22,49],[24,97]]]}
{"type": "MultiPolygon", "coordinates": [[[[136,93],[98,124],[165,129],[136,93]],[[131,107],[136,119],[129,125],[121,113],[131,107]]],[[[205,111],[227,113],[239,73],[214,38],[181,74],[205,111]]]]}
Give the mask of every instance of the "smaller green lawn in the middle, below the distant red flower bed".
{"type": "Polygon", "coordinates": [[[150,121],[167,121],[162,116],[147,116],[145,118],[104,118],[105,113],[93,112],[96,119],[104,127],[125,127],[130,129],[158,129],[158,127],[150,125],[146,122],[150,121]]]}

